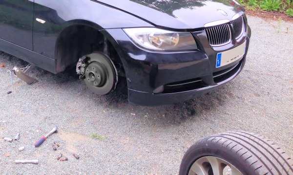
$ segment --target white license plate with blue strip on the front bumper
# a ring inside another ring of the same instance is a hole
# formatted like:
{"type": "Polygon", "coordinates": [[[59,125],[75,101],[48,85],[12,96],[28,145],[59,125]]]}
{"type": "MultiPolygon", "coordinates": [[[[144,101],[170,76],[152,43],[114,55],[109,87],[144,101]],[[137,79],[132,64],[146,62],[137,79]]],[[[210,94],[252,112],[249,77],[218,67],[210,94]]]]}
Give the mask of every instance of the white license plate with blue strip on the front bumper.
{"type": "Polygon", "coordinates": [[[218,53],[216,59],[216,68],[226,66],[227,64],[242,58],[245,54],[245,48],[246,41],[240,46],[237,46],[231,50],[218,53]]]}

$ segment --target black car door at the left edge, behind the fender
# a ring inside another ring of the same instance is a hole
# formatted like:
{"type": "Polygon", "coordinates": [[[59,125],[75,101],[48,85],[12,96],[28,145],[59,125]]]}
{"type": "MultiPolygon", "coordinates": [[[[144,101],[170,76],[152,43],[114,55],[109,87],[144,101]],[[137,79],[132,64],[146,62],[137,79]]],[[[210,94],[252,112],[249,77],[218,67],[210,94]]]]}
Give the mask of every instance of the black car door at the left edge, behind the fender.
{"type": "Polygon", "coordinates": [[[34,0],[0,0],[0,39],[33,50],[34,0]]]}

